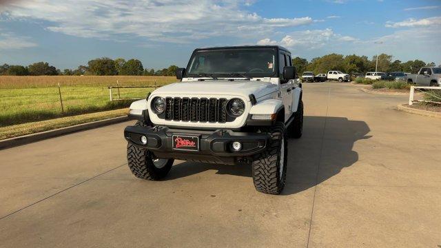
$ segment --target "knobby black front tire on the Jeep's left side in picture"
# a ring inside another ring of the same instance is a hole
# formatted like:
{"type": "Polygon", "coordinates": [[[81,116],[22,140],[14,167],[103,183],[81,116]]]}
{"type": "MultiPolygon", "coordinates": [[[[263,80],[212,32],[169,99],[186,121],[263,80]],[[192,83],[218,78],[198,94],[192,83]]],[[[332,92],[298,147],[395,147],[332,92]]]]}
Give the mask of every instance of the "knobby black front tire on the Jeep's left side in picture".
{"type": "MultiPolygon", "coordinates": [[[[146,126],[147,124],[138,121],[135,125],[146,126]]],[[[130,143],[127,145],[127,165],[137,178],[159,180],[167,176],[172,169],[173,162],[173,159],[156,158],[152,152],[142,147],[130,143]]]]}

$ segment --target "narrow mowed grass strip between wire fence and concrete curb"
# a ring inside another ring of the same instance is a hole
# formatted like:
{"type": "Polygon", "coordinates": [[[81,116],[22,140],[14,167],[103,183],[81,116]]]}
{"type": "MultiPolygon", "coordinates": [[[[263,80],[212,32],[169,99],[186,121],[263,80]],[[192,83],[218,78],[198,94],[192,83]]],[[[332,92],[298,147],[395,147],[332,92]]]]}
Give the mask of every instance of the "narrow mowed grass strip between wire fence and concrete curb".
{"type": "Polygon", "coordinates": [[[32,123],[0,127],[0,140],[23,136],[26,134],[34,134],[37,132],[54,130],[61,127],[70,127],[72,125],[90,123],[92,121],[101,121],[107,118],[126,116],[128,111],[129,110],[127,108],[123,108],[120,110],[110,110],[105,112],[96,112],[92,114],[81,114],[77,116],[54,118],[47,121],[36,121],[32,123]]]}

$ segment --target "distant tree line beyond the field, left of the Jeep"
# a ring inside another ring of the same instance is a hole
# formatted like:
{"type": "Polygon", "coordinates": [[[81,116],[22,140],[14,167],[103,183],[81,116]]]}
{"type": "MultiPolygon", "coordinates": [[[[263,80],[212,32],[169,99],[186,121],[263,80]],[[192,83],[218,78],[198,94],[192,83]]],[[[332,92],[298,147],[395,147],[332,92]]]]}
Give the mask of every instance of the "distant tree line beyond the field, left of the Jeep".
{"type": "Polygon", "coordinates": [[[0,65],[0,75],[11,76],[53,76],[53,75],[96,75],[96,76],[113,76],[113,75],[130,75],[130,76],[174,76],[174,72],[178,67],[170,65],[168,68],[161,70],[147,69],[143,67],[143,63],[139,59],[110,59],[107,57],[92,59],[88,61],[88,65],[79,65],[78,68],[63,71],[50,65],[48,62],[32,63],[28,66],[23,65],[0,65]]]}

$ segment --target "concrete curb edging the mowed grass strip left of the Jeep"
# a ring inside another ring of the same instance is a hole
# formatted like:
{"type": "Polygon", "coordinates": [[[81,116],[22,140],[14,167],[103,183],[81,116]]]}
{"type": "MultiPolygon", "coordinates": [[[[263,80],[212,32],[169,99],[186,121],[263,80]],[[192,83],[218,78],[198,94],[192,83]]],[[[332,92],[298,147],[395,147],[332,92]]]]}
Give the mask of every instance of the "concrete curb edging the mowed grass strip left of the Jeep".
{"type": "Polygon", "coordinates": [[[123,121],[128,121],[130,118],[128,116],[120,116],[115,118],[109,118],[101,121],[94,121],[91,123],[83,123],[79,125],[73,125],[70,127],[62,127],[56,130],[48,130],[44,132],[39,132],[36,134],[28,134],[23,136],[18,136],[14,138],[7,138],[3,141],[0,141],[0,149],[6,149],[10,147],[15,147],[18,145],[25,145],[28,143],[32,143],[35,141],[41,141],[46,138],[53,138],[57,136],[61,136],[64,134],[71,134],[73,132],[79,132],[83,130],[90,130],[96,127],[102,127],[104,125],[111,125],[115,123],[121,123],[123,121]]]}

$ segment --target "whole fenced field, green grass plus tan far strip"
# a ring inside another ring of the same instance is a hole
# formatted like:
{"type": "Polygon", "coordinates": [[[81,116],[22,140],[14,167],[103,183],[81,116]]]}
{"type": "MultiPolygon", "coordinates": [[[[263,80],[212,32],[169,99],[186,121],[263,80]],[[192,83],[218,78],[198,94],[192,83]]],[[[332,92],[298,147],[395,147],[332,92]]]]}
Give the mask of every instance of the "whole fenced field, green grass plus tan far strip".
{"type": "MultiPolygon", "coordinates": [[[[107,87],[117,82],[160,87],[174,81],[174,76],[0,76],[0,127],[128,107],[134,100],[110,101],[107,87]]],[[[142,99],[152,90],[113,89],[112,98],[142,99]]]]}

